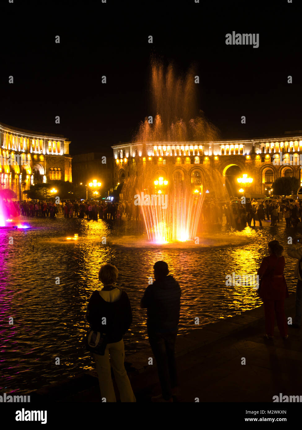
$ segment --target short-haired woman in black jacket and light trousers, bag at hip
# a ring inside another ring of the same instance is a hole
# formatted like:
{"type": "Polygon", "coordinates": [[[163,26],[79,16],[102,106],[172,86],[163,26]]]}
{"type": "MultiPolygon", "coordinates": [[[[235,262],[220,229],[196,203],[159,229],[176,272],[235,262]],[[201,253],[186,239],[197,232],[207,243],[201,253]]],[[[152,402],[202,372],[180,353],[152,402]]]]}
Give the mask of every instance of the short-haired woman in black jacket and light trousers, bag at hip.
{"type": "Polygon", "coordinates": [[[136,402],[124,364],[123,335],[131,326],[131,304],[125,291],[113,285],[117,278],[118,269],[115,266],[105,264],[100,268],[99,279],[104,287],[91,295],[86,315],[93,331],[106,333],[105,354],[103,356],[93,354],[102,398],[106,398],[106,402],[116,402],[110,357],[121,402],[136,402]]]}

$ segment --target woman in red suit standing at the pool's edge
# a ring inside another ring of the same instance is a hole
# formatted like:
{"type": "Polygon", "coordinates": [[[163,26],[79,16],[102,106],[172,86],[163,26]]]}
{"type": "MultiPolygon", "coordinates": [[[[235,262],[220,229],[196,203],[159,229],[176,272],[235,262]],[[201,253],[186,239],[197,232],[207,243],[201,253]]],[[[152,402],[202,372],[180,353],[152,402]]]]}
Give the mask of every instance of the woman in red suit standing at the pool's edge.
{"type": "Polygon", "coordinates": [[[275,313],[280,335],[287,339],[287,321],[284,311],[284,300],[289,297],[283,275],[285,260],[282,255],[283,246],[278,240],[268,243],[269,256],[263,258],[257,275],[261,278],[259,295],[264,303],[265,331],[267,339],[273,339],[275,313]]]}

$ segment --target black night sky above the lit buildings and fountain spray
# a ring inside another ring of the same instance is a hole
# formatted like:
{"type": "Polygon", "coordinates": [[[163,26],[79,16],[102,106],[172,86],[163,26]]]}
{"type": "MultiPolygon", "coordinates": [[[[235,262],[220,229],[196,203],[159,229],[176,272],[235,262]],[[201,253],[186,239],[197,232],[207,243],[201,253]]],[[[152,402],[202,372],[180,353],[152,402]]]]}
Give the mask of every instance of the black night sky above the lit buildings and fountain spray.
{"type": "Polygon", "coordinates": [[[72,141],[71,154],[112,155],[111,145],[130,141],[140,120],[155,114],[148,87],[153,54],[165,64],[173,61],[180,74],[195,64],[199,108],[221,138],[300,130],[298,5],[3,0],[0,122],[63,134],[72,141]],[[227,46],[232,31],[259,33],[259,47],[227,46]]]}

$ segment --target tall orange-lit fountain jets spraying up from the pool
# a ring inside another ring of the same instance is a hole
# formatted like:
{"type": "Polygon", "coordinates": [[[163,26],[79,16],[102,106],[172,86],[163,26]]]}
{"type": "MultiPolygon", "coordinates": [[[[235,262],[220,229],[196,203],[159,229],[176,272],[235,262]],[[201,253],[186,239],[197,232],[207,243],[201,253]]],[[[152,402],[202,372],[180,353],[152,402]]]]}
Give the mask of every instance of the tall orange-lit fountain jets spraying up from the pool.
{"type": "MultiPolygon", "coordinates": [[[[163,64],[152,61],[154,121],[150,123],[149,118],[145,118],[140,123],[134,143],[165,145],[165,142],[172,141],[217,140],[217,129],[205,120],[202,111],[196,116],[195,75],[193,68],[190,68],[182,79],[176,75],[171,64],[165,70],[163,64]]],[[[146,165],[137,169],[137,176],[125,181],[122,193],[128,202],[133,202],[134,195],[139,196],[139,201],[134,205],[140,206],[136,211],[140,210],[143,215],[149,242],[194,240],[204,199],[202,184],[186,182],[181,171],[174,172],[171,178],[160,176],[154,181],[154,169],[160,171],[159,167],[149,164],[149,170],[146,170],[146,165]]]]}

